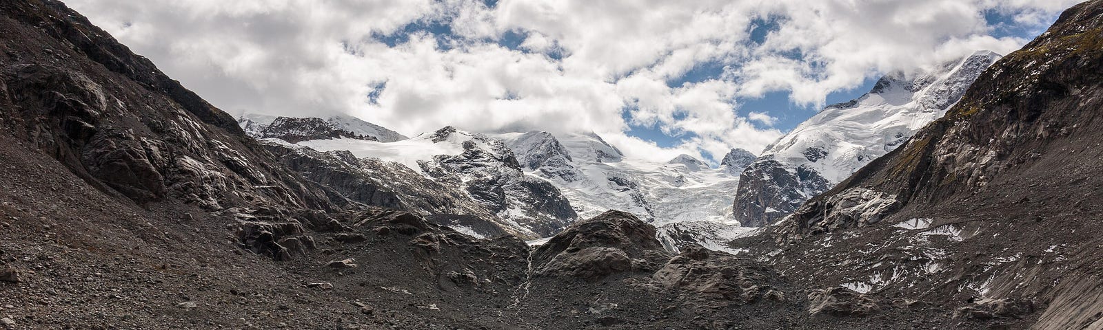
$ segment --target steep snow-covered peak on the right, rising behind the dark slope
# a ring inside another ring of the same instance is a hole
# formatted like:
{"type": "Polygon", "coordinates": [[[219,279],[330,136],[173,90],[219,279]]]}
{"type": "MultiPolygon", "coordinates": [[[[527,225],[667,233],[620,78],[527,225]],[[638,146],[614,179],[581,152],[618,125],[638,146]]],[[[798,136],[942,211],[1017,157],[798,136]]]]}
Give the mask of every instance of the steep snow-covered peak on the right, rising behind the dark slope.
{"type": "Polygon", "coordinates": [[[982,51],[930,72],[890,74],[860,98],[827,107],[741,174],[736,218],[759,227],[789,215],[941,118],[999,57],[982,51]]]}

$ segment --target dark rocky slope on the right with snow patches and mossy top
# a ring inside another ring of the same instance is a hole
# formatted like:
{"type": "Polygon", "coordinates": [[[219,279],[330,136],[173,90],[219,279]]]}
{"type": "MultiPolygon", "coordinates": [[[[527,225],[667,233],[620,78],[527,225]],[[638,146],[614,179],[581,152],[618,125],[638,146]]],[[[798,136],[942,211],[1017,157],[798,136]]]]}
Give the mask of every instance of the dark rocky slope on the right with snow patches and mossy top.
{"type": "Polygon", "coordinates": [[[1101,63],[1103,1],[1088,1],[903,146],[737,245],[871,304],[953,309],[961,328],[1103,328],[1101,63]]]}

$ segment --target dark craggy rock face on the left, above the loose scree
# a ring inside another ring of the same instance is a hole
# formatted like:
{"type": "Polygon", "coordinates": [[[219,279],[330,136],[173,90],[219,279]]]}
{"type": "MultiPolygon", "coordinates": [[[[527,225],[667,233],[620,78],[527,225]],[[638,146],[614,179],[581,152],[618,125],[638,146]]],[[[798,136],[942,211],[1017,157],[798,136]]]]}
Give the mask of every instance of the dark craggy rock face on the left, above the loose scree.
{"type": "Polygon", "coordinates": [[[55,1],[11,1],[0,54],[2,123],[90,185],[207,210],[266,201],[331,208],[323,189],[272,166],[233,119],[55,1]],[[35,26],[35,28],[25,28],[35,26]],[[25,29],[35,31],[29,32],[25,29]],[[57,44],[65,44],[64,47],[57,44]]]}

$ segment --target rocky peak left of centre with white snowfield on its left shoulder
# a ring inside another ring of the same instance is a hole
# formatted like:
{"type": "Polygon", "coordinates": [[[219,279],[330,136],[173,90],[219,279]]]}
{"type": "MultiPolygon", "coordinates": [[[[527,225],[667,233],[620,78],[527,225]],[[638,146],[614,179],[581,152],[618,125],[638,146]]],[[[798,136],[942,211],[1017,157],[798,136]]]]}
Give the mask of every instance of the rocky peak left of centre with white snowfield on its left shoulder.
{"type": "MultiPolygon", "coordinates": [[[[484,134],[447,127],[432,133],[390,143],[330,139],[301,141],[296,145],[320,152],[349,152],[355,157],[371,158],[372,162],[401,165],[408,168],[409,173],[420,175],[421,178],[418,180],[431,179],[439,185],[463,191],[463,198],[473,200],[493,215],[495,219],[488,221],[499,222],[503,224],[503,230],[518,233],[524,238],[552,235],[578,219],[559,189],[544,179],[526,175],[513,152],[502,141],[484,134]]],[[[361,166],[364,164],[363,161],[358,163],[361,166]]],[[[376,176],[384,177],[384,180],[411,182],[407,175],[376,173],[376,176]]],[[[399,193],[409,190],[392,189],[399,193]]],[[[425,199],[410,196],[407,198],[425,199]]],[[[457,204],[465,205],[465,202],[457,204]]],[[[489,235],[484,232],[479,234],[489,235]]]]}

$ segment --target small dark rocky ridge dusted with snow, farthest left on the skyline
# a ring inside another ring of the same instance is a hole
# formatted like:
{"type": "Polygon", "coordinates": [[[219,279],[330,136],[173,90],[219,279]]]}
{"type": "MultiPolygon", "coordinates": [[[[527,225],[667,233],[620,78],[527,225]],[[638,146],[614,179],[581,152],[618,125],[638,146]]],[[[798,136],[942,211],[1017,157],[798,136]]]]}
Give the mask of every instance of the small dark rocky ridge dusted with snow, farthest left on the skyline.
{"type": "Polygon", "coordinates": [[[379,142],[408,139],[398,132],[346,114],[321,119],[244,113],[237,118],[237,123],[251,136],[275,138],[283,141],[296,140],[292,143],[335,138],[355,138],[379,142]]]}

